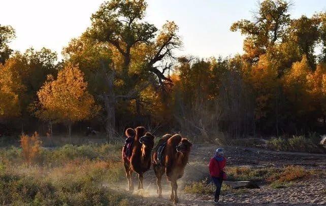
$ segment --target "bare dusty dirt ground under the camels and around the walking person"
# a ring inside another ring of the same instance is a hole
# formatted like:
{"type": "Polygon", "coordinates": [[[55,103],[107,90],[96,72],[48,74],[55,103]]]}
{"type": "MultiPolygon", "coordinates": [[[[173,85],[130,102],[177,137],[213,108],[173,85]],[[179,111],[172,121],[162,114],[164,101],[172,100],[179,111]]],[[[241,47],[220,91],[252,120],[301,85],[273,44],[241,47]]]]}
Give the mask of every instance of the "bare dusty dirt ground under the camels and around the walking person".
{"type": "MultiPolygon", "coordinates": [[[[189,165],[178,181],[180,203],[177,205],[214,205],[212,195],[194,195],[183,192],[186,183],[208,177],[208,162],[217,146],[195,145],[190,153],[189,165]]],[[[227,166],[283,167],[301,165],[306,169],[326,169],[326,155],[297,152],[276,152],[255,148],[224,147],[227,166]]],[[[137,178],[134,177],[137,186],[137,178]]],[[[145,174],[145,189],[135,191],[138,205],[172,205],[169,201],[170,184],[164,179],[163,198],[156,197],[156,179],[153,170],[145,174]],[[140,198],[139,198],[139,196],[140,198]]],[[[117,186],[125,190],[126,181],[117,186]]],[[[326,177],[309,178],[286,188],[259,185],[259,189],[244,189],[241,194],[220,197],[219,205],[326,205],[326,177]]]]}

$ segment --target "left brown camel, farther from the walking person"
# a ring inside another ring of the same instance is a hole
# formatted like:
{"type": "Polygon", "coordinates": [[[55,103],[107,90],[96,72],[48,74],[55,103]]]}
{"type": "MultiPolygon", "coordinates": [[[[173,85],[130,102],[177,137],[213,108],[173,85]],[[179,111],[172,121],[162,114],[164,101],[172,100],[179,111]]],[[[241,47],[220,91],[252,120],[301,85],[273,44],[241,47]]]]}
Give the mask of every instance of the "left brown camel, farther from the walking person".
{"type": "Polygon", "coordinates": [[[129,191],[134,190],[132,175],[138,174],[138,189],[143,189],[143,175],[150,168],[151,151],[154,146],[154,136],[146,132],[144,127],[137,127],[131,157],[126,161],[123,158],[125,175],[128,180],[129,191]]]}

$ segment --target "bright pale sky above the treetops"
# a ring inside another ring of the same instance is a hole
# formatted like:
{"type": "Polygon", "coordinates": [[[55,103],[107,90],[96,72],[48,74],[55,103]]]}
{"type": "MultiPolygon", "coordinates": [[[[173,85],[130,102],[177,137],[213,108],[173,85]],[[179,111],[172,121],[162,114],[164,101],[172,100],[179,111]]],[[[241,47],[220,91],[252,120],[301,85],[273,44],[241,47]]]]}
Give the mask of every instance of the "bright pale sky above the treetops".
{"type": "MultiPolygon", "coordinates": [[[[47,47],[59,56],[62,47],[90,25],[90,16],[103,0],[1,0],[0,24],[12,25],[15,50],[47,47]]],[[[184,47],[180,54],[199,57],[228,56],[242,52],[239,32],[230,26],[250,19],[257,0],[148,0],[146,20],[158,28],[166,20],[180,27],[184,47]]],[[[292,17],[326,11],[325,0],[292,0],[292,17]]]]}

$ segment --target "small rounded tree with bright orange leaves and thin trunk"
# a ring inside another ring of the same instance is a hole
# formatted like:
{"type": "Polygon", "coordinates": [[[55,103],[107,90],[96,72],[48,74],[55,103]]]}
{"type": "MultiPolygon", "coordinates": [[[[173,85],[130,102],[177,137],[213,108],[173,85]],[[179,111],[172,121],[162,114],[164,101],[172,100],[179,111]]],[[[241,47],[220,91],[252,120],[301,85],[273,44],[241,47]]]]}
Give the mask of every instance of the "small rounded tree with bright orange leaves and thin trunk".
{"type": "Polygon", "coordinates": [[[69,137],[73,123],[87,119],[97,111],[94,98],[87,91],[84,75],[76,66],[64,67],[56,80],[48,76],[37,95],[40,109],[35,112],[36,116],[66,124],[69,137]]]}

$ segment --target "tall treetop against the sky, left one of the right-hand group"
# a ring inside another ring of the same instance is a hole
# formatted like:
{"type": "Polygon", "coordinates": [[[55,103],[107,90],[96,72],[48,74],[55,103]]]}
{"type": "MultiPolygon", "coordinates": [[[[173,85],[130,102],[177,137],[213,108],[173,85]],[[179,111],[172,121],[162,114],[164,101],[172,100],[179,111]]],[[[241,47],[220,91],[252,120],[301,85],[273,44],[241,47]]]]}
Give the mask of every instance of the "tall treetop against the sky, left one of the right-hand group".
{"type": "Polygon", "coordinates": [[[243,47],[245,59],[258,61],[270,46],[286,36],[290,23],[290,4],[283,0],[265,0],[260,3],[253,21],[240,20],[231,26],[231,31],[241,31],[246,36],[243,47]]]}

